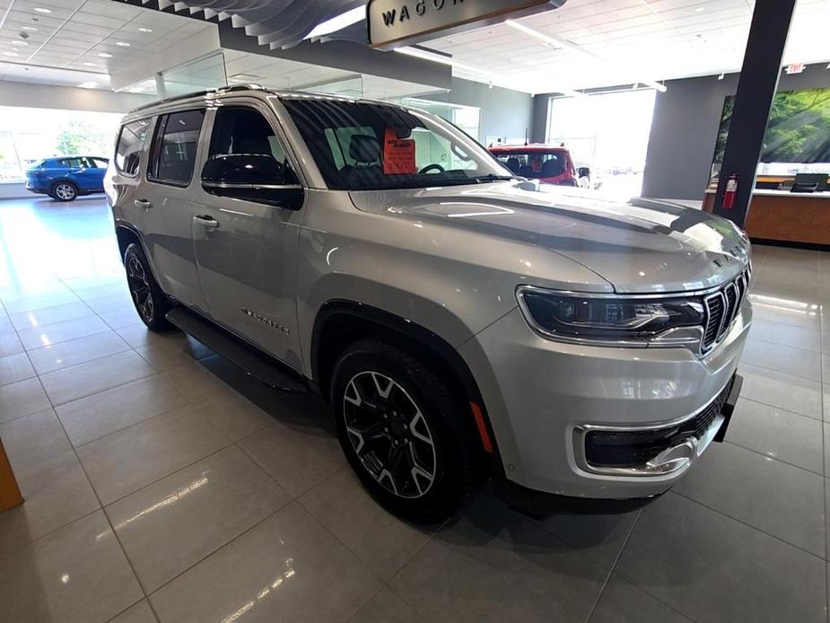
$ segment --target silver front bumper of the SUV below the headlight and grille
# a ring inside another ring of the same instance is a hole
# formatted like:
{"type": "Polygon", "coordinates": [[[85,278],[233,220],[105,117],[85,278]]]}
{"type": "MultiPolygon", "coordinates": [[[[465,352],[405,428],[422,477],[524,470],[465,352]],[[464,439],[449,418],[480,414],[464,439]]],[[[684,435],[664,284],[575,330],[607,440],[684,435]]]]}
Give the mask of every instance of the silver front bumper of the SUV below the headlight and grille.
{"type": "Polygon", "coordinates": [[[736,399],[726,388],[751,315],[747,301],[721,344],[703,357],[679,347],[563,344],[537,336],[518,310],[504,316],[459,352],[485,400],[505,478],[574,498],[627,500],[665,492],[722,435],[730,408],[717,400],[724,390],[728,400],[736,399]],[[718,412],[701,431],[673,439],[677,443],[640,469],[616,469],[613,461],[598,466],[587,456],[591,431],[673,431],[712,405],[718,412]]]}

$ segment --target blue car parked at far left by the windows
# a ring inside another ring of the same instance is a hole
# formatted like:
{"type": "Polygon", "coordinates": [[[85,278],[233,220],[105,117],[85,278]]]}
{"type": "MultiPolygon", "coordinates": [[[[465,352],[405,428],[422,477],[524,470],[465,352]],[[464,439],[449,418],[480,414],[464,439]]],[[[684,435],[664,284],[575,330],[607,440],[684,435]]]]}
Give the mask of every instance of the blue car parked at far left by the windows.
{"type": "Polygon", "coordinates": [[[26,189],[57,201],[104,191],[109,160],[98,156],[46,158],[26,171],[26,189]]]}

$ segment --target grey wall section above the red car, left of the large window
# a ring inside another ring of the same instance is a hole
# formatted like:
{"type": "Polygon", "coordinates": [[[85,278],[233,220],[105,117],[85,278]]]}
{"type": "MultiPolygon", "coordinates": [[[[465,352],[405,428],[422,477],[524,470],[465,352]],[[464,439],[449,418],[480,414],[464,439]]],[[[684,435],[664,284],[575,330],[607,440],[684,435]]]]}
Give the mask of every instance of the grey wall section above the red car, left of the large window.
{"type": "Polygon", "coordinates": [[[485,136],[523,138],[525,132],[529,131],[534,98],[528,93],[497,86],[491,89],[484,83],[463,78],[452,78],[451,87],[449,93],[432,93],[424,95],[424,98],[480,108],[481,127],[478,138],[482,143],[485,136]]]}

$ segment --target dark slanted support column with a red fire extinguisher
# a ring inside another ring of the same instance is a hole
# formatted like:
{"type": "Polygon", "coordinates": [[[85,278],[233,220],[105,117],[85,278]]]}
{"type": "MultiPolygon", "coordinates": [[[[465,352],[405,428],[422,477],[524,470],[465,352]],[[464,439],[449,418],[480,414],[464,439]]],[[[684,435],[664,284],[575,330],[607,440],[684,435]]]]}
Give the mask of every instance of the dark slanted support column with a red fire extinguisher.
{"type": "Polygon", "coordinates": [[[747,220],[755,189],[758,159],[778,88],[795,4],[796,0],[756,0],[752,13],[714,202],[715,214],[725,216],[740,226],[747,220]],[[734,207],[724,209],[723,194],[732,175],[738,178],[738,196],[734,207]]]}

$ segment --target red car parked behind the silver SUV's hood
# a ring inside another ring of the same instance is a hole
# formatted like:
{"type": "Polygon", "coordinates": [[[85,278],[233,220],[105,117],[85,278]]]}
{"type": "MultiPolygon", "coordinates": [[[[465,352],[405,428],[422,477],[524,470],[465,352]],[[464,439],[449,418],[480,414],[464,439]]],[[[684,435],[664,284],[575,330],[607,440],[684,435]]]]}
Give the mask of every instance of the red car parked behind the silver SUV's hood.
{"type": "Polygon", "coordinates": [[[490,153],[507,165],[507,168],[532,180],[560,186],[580,186],[580,178],[587,178],[587,167],[581,167],[579,175],[573,166],[571,153],[564,147],[553,145],[491,145],[490,153]]]}

